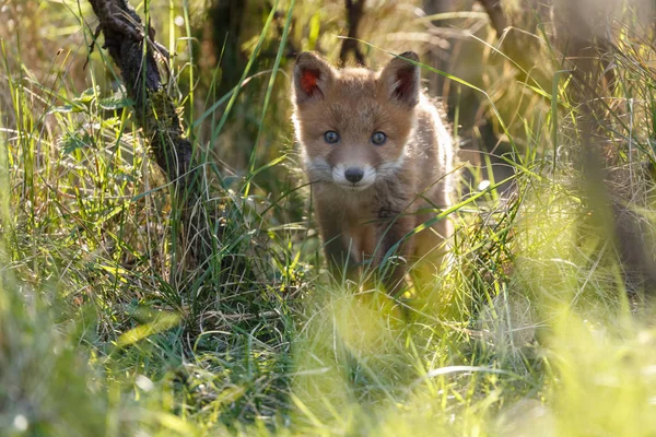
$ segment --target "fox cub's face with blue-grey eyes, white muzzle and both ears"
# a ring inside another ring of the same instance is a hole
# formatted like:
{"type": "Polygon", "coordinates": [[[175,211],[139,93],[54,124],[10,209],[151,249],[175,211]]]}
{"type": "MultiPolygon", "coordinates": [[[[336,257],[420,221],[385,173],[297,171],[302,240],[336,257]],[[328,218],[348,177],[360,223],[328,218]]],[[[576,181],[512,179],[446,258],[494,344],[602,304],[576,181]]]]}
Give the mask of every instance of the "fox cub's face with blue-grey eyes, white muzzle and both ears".
{"type": "MultiPolygon", "coordinates": [[[[401,56],[419,60],[413,52],[401,56]]],[[[417,66],[395,58],[379,72],[338,70],[304,52],[293,90],[295,130],[312,184],[364,190],[401,168],[420,98],[417,66]]]]}

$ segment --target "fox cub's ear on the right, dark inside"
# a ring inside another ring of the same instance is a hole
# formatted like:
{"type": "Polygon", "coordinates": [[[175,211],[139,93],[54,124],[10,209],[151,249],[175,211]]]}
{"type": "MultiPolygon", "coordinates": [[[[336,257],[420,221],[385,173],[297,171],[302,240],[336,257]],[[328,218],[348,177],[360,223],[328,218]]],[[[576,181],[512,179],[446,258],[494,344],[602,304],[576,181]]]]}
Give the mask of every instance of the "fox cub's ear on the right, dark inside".
{"type": "MultiPolygon", "coordinates": [[[[400,56],[419,62],[419,56],[413,51],[406,51],[400,56]]],[[[410,107],[419,103],[420,74],[419,67],[415,64],[401,58],[394,58],[380,71],[378,82],[384,93],[393,101],[410,107]]]]}

